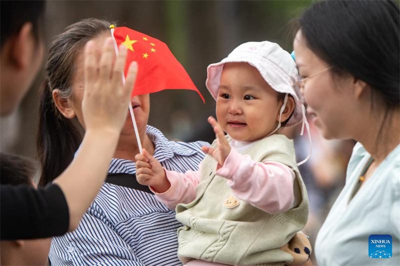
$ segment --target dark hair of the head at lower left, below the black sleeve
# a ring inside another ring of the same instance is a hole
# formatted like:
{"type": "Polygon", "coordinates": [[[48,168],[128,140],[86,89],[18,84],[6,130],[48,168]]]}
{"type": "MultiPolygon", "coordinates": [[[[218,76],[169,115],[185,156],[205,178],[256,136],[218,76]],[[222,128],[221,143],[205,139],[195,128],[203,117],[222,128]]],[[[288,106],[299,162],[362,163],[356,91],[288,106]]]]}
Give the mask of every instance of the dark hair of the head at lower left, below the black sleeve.
{"type": "Polygon", "coordinates": [[[0,184],[33,186],[37,173],[36,164],[25,157],[0,153],[0,184]]]}

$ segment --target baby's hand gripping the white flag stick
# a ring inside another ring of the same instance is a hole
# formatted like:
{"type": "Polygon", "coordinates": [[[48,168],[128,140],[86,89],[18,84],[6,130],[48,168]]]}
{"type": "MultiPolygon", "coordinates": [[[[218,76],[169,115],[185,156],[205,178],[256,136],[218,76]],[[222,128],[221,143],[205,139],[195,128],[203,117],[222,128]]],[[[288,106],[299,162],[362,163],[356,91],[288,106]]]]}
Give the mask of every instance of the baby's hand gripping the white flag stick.
{"type": "Polygon", "coordinates": [[[152,187],[157,193],[164,193],[171,184],[166,178],[161,164],[145,149],[143,154],[136,154],[136,180],[139,184],[152,187]]]}

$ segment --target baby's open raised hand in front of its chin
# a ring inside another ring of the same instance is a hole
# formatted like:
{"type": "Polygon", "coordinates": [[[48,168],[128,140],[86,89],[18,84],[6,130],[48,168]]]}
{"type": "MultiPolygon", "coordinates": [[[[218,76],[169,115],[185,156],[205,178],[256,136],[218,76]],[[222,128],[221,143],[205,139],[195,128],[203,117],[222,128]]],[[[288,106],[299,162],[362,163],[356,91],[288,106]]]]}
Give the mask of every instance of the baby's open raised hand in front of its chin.
{"type": "Polygon", "coordinates": [[[218,164],[222,166],[226,160],[226,157],[228,157],[230,146],[225,138],[225,135],[223,134],[221,126],[218,124],[218,122],[216,122],[215,118],[212,116],[208,117],[208,123],[210,123],[214,129],[217,147],[213,149],[203,146],[201,147],[201,150],[211,155],[218,162],[218,164]]]}

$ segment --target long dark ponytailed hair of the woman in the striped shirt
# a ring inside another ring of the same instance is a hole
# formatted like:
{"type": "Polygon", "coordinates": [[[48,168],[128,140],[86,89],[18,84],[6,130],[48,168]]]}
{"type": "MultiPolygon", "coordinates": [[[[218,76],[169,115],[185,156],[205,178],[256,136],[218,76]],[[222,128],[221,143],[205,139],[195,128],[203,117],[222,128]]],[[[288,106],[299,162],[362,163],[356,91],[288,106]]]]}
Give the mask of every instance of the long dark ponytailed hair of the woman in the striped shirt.
{"type": "Polygon", "coordinates": [[[82,141],[81,127],[59,113],[52,91],[58,89],[63,100],[72,96],[72,78],[78,55],[87,41],[109,31],[109,25],[105,20],[84,19],[66,27],[50,44],[47,77],[40,92],[36,139],[41,168],[39,186],[45,186],[65,170],[82,141]]]}

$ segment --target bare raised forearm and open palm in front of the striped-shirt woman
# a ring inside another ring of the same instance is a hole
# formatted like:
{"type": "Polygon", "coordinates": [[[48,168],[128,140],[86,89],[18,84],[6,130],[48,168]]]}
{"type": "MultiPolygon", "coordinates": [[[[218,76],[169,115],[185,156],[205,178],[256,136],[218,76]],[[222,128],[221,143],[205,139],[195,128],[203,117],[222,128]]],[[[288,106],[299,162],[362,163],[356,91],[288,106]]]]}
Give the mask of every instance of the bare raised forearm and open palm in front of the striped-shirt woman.
{"type": "Polygon", "coordinates": [[[85,135],[72,163],[54,180],[64,193],[68,204],[69,230],[77,227],[105,180],[109,162],[126,119],[137,72],[137,64],[133,62],[129,67],[126,83],[122,86],[126,49],[119,49],[112,69],[115,56],[112,39],[108,38],[105,41],[99,62],[94,53],[94,46],[94,42],[89,41],[84,54],[86,88],[82,114],[85,135]]]}

